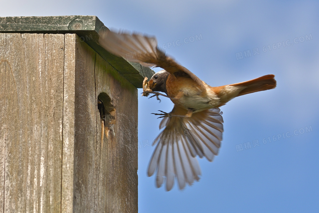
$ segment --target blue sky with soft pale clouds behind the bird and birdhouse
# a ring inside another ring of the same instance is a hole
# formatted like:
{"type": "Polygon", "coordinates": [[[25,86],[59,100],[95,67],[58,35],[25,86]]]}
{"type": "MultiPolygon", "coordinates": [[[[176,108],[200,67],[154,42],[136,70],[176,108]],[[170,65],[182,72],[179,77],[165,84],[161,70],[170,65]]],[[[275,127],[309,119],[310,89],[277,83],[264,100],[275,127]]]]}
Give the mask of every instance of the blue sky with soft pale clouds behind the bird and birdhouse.
{"type": "Polygon", "coordinates": [[[170,192],[155,187],[154,177],[146,176],[154,147],[143,147],[142,142],[151,143],[159,133],[160,120],[150,113],[170,111],[173,104],[165,98],[158,103],[139,97],[139,212],[319,211],[319,2],[1,4],[0,16],[96,15],[112,29],[155,35],[162,47],[172,44],[167,54],[211,86],[275,74],[275,89],[237,97],[221,107],[224,135],[219,156],[212,163],[200,159],[200,181],[183,191],[176,185],[170,192]],[[183,44],[174,47],[177,40],[183,44]],[[259,54],[253,55],[256,48],[259,54]],[[253,147],[256,140],[259,146],[253,147]],[[245,149],[247,142],[251,148],[245,149]],[[242,151],[236,149],[240,144],[242,151]]]}

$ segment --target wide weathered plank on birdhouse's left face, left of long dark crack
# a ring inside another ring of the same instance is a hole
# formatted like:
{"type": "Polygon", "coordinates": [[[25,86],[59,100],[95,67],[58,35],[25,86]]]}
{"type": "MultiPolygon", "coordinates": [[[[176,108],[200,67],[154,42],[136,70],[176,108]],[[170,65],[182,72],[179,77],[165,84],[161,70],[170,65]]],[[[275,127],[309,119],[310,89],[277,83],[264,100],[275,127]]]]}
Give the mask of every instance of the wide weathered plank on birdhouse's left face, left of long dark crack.
{"type": "Polygon", "coordinates": [[[60,211],[63,45],[64,35],[0,34],[4,212],[60,211]]]}

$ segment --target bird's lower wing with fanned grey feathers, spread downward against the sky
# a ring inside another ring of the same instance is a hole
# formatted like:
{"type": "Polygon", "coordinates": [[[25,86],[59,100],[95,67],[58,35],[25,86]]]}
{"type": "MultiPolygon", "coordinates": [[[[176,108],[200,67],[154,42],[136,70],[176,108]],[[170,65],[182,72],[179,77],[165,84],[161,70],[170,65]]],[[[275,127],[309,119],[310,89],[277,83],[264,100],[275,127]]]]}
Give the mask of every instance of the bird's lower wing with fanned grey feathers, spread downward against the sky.
{"type": "MultiPolygon", "coordinates": [[[[172,115],[185,115],[187,110],[174,106],[172,115]]],[[[196,156],[212,161],[218,155],[222,140],[223,118],[219,108],[193,113],[190,118],[165,117],[159,128],[165,129],[154,141],[157,146],[152,155],[147,174],[157,170],[156,186],[160,187],[166,177],[166,190],[174,185],[174,177],[180,189],[201,174],[196,156]]]]}

